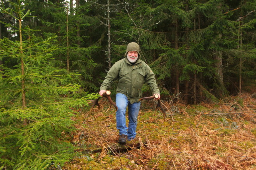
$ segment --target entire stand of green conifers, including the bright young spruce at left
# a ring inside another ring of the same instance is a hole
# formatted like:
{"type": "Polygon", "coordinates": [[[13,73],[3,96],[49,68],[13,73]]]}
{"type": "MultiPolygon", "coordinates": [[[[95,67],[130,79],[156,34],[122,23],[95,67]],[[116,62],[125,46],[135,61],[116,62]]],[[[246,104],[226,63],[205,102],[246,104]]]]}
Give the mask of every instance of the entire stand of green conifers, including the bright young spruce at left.
{"type": "MultiPolygon", "coordinates": [[[[5,167],[70,158],[72,146],[61,132],[72,129],[72,109],[99,96],[107,71],[124,57],[129,42],[140,45],[163,100],[199,104],[255,92],[254,0],[0,2],[5,167]]],[[[147,85],[143,92],[151,95],[147,85]]]]}

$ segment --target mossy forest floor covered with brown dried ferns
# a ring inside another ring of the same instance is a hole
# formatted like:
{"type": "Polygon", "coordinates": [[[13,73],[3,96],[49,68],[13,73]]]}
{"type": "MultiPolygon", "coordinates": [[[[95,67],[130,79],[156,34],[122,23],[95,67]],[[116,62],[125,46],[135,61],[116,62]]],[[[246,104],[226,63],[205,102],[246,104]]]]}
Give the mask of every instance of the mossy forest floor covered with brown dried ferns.
{"type": "MultiPolygon", "coordinates": [[[[254,93],[255,95],[255,93],[254,93]]],[[[82,110],[72,143],[77,156],[62,170],[255,170],[256,96],[242,93],[218,103],[184,105],[143,101],[137,138],[119,145],[115,110],[82,110]]],[[[128,122],[128,120],[127,120],[128,122]]]]}

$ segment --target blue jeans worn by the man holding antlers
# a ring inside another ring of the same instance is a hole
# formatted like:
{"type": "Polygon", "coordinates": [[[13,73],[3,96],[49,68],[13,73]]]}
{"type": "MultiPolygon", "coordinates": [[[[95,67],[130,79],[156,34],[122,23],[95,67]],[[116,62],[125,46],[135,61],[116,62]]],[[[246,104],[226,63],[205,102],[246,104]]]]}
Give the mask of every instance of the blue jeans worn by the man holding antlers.
{"type": "Polygon", "coordinates": [[[134,139],[136,136],[137,118],[140,110],[140,102],[133,104],[127,99],[126,95],[122,93],[116,94],[116,105],[118,110],[116,111],[116,128],[120,134],[127,135],[127,140],[134,139]],[[125,112],[128,106],[128,128],[126,126],[125,112]]]}

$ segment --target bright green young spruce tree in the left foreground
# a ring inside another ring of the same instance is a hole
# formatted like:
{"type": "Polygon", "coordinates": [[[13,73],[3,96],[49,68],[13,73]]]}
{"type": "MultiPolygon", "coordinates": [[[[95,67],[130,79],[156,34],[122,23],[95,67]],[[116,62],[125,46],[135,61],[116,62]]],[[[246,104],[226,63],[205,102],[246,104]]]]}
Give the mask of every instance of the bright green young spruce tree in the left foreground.
{"type": "Polygon", "coordinates": [[[78,75],[64,75],[65,69],[54,66],[55,36],[42,39],[22,26],[26,17],[33,17],[24,10],[27,4],[8,3],[10,7],[1,6],[0,11],[17,26],[2,23],[19,39],[0,39],[0,59],[6,58],[0,76],[0,168],[58,167],[73,156],[67,135],[74,130],[72,108],[87,105],[97,95],[78,93],[80,85],[70,83],[78,75]]]}

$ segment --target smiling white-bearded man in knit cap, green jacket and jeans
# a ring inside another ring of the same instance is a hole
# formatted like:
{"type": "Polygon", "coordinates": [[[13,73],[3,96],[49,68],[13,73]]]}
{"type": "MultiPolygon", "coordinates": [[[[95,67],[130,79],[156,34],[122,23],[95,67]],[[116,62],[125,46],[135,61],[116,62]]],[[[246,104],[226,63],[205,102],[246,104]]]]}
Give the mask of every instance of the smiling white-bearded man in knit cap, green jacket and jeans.
{"type": "Polygon", "coordinates": [[[140,47],[136,42],[128,44],[125,58],[117,61],[108,71],[105,80],[100,86],[99,94],[102,96],[107,88],[111,86],[114,80],[118,80],[116,88],[116,127],[119,130],[120,144],[132,140],[136,136],[137,117],[140,110],[140,102],[142,98],[142,85],[147,83],[153,94],[159,95],[155,75],[150,67],[140,60],[140,47]],[[126,126],[125,112],[128,106],[128,128],[126,126]]]}

